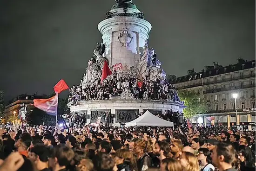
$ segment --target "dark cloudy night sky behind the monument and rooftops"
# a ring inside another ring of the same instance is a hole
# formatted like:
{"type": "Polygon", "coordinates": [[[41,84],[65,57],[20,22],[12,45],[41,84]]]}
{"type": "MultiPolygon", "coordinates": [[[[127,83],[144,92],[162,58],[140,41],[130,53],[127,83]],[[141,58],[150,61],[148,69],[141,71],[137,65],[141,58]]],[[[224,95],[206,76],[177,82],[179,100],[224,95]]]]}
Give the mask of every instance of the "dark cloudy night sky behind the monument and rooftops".
{"type": "MultiPolygon", "coordinates": [[[[98,23],[115,0],[0,0],[0,89],[5,98],[80,82],[98,23]]],[[[255,59],[255,0],[134,0],[153,28],[163,69],[182,76],[213,61],[255,59]]]]}

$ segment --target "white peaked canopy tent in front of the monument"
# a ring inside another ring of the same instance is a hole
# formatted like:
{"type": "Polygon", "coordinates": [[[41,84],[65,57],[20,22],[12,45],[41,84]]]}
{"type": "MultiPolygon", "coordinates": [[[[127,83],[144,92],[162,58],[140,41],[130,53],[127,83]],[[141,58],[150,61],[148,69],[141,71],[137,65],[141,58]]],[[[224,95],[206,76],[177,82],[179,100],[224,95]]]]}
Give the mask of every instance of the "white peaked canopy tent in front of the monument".
{"type": "Polygon", "coordinates": [[[125,127],[133,126],[157,126],[157,127],[173,127],[173,122],[163,120],[148,110],[135,120],[125,123],[125,127]]]}

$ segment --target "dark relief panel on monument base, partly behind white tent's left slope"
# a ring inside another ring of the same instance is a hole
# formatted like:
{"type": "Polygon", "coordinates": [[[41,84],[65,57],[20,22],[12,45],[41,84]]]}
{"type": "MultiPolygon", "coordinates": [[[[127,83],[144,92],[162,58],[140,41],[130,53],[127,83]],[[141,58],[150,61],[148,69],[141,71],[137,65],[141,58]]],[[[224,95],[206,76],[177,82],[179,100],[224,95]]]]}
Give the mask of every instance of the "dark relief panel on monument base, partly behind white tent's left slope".
{"type": "Polygon", "coordinates": [[[129,122],[136,119],[139,109],[116,109],[116,122],[129,122]]]}

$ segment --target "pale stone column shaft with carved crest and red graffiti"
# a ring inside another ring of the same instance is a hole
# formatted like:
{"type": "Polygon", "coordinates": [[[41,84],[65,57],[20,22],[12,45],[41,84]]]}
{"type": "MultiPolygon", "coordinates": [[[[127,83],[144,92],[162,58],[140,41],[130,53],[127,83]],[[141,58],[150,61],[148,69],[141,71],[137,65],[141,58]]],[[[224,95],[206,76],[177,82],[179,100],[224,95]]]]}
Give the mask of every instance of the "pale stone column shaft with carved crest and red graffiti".
{"type": "Polygon", "coordinates": [[[113,17],[101,21],[98,29],[106,44],[106,57],[119,76],[136,75],[151,24],[136,17],[113,17]]]}

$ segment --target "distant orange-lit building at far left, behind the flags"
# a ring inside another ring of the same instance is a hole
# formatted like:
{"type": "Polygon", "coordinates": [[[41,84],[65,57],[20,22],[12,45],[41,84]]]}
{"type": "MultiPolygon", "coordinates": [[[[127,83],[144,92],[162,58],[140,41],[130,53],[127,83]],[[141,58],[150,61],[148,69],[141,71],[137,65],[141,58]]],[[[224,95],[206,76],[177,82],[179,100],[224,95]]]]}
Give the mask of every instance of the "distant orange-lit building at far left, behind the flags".
{"type": "Polygon", "coordinates": [[[23,104],[27,107],[27,112],[32,112],[34,105],[34,99],[40,99],[42,96],[39,95],[19,95],[9,101],[5,106],[4,114],[5,116],[9,115],[17,115],[19,114],[20,108],[22,108],[23,104]]]}

